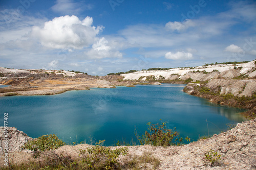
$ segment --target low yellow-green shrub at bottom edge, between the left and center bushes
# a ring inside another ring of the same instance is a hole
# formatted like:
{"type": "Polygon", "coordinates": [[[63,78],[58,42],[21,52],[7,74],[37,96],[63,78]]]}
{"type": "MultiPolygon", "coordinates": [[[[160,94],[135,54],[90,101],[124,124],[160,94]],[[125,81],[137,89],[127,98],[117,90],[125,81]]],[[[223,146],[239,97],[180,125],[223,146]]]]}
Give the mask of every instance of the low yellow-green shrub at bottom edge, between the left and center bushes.
{"type": "Polygon", "coordinates": [[[114,169],[118,167],[117,158],[120,155],[126,155],[127,147],[116,148],[112,150],[110,147],[103,147],[104,140],[100,140],[95,146],[85,150],[79,150],[79,154],[83,157],[85,169],[114,169]]]}

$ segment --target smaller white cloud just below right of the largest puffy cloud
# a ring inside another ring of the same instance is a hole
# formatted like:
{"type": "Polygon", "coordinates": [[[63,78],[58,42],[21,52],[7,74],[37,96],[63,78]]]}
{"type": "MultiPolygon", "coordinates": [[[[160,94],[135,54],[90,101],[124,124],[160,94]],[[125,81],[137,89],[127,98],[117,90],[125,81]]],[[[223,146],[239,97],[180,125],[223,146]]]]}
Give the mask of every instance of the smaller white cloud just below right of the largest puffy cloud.
{"type": "Polygon", "coordinates": [[[104,37],[94,43],[92,49],[84,52],[84,54],[90,59],[122,58],[122,53],[115,50],[113,45],[104,37]]]}

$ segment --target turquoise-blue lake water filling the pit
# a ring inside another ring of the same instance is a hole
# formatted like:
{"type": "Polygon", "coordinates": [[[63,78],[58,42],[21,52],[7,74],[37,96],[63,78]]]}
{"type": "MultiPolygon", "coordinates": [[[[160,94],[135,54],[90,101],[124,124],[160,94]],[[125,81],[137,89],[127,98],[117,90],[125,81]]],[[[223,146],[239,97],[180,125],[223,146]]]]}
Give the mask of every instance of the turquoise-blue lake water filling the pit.
{"type": "Polygon", "coordinates": [[[56,134],[67,143],[94,137],[105,145],[135,140],[134,129],[145,132],[148,122],[167,121],[182,137],[197,140],[215,134],[228,123],[241,123],[238,108],[209,103],[182,92],[185,85],[137,85],[135,88],[92,88],[46,96],[0,98],[0,126],[8,112],[8,126],[36,138],[56,134]],[[206,122],[207,120],[207,122],[206,122]],[[207,128],[208,123],[208,128],[207,128]],[[209,131],[209,132],[208,132],[209,131]]]}

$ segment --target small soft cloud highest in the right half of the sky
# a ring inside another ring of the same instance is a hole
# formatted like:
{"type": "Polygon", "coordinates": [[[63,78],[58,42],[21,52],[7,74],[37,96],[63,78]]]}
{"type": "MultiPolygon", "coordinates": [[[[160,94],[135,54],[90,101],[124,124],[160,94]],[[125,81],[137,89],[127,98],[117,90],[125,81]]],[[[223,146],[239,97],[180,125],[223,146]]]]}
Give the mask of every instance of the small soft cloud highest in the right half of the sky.
{"type": "Polygon", "coordinates": [[[171,31],[182,31],[182,30],[186,30],[189,27],[194,27],[195,26],[195,22],[193,22],[191,19],[186,19],[183,23],[182,22],[167,22],[165,25],[165,28],[167,30],[171,30],[171,31]]]}

